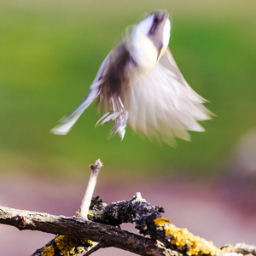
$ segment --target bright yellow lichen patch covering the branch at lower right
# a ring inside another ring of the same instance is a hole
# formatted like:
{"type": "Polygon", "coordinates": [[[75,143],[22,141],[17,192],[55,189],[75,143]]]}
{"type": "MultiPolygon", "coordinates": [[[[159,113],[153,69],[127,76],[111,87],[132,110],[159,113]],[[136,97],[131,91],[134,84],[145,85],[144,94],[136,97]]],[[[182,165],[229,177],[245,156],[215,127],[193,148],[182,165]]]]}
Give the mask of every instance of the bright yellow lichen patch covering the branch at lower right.
{"type": "Polygon", "coordinates": [[[163,227],[166,236],[171,236],[171,243],[178,248],[188,247],[186,252],[188,255],[210,254],[215,255],[221,253],[218,247],[215,247],[212,241],[207,241],[199,236],[194,236],[187,229],[177,228],[166,218],[155,218],[154,224],[163,227]]]}

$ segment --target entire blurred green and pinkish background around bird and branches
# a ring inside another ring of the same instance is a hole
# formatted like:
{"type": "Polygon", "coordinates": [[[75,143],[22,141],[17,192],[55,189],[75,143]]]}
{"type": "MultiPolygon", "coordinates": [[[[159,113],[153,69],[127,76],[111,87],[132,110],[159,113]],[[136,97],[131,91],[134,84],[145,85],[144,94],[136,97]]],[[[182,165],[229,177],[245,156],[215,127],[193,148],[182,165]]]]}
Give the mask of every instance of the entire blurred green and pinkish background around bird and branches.
{"type": "MultiPolygon", "coordinates": [[[[89,165],[104,164],[95,195],[137,191],[179,227],[225,243],[256,241],[256,2],[254,0],[0,2],[0,204],[73,215],[89,165]],[[216,114],[192,142],[155,145],[91,106],[65,137],[49,130],[89,90],[125,27],[168,9],[170,48],[184,78],[216,114]]],[[[134,231],[133,227],[125,227],[134,231]]],[[[53,236],[0,226],[0,248],[28,255],[53,236]]],[[[95,255],[131,255],[115,249],[95,255]],[[104,254],[103,254],[104,253],[104,254]]]]}

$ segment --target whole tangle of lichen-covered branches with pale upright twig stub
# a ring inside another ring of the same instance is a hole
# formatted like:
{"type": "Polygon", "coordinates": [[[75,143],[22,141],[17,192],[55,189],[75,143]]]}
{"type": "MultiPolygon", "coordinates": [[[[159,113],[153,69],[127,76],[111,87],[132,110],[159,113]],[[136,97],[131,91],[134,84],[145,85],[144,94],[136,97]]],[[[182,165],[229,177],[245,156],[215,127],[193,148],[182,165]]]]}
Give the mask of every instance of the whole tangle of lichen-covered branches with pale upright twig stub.
{"type": "Polygon", "coordinates": [[[256,256],[253,246],[240,244],[220,249],[212,241],[194,236],[187,229],[177,228],[169,219],[162,218],[161,213],[165,212],[163,207],[151,206],[140,193],[129,201],[113,202],[108,206],[98,196],[91,200],[101,166],[100,160],[90,166],[92,174],[78,216],[55,216],[0,206],[0,224],[58,235],[32,256],[75,256],[84,250],[87,251],[84,256],[87,256],[102,247],[117,247],[139,255],[155,256],[210,256],[222,253],[225,256],[234,256],[234,253],[256,256]],[[135,223],[144,236],[116,227],[124,223],[135,223]]]}

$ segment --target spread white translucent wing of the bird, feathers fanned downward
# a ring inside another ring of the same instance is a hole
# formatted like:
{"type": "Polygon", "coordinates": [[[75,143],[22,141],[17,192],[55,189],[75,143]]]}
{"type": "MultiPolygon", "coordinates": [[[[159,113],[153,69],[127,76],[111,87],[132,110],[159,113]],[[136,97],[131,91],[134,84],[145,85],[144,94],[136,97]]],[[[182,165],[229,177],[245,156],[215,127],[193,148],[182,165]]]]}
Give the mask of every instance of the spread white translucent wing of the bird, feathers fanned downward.
{"type": "Polygon", "coordinates": [[[205,131],[197,121],[211,119],[204,99],[183,79],[171,52],[125,94],[128,124],[151,140],[173,145],[173,137],[189,140],[189,131],[205,131]]]}

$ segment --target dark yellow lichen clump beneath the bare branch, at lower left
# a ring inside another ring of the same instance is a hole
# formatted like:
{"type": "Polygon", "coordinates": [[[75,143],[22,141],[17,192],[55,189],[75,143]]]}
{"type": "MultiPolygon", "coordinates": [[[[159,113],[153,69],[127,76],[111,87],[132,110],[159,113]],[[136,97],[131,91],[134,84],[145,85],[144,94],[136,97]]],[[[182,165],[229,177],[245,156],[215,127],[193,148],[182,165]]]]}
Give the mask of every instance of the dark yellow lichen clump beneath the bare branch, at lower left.
{"type": "Polygon", "coordinates": [[[55,244],[63,256],[72,256],[84,252],[84,247],[93,247],[95,241],[79,239],[71,236],[57,236],[55,244]],[[81,245],[83,244],[83,247],[81,245]]]}

